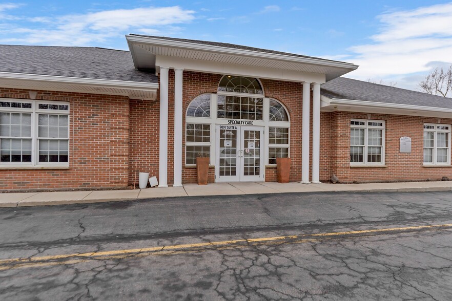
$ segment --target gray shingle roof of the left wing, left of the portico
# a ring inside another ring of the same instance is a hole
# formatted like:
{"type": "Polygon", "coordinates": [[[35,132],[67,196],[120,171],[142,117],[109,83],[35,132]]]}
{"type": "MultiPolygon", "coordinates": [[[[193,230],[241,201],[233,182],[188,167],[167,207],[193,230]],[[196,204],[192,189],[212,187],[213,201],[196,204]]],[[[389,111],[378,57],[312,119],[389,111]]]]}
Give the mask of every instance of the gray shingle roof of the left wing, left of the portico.
{"type": "Polygon", "coordinates": [[[128,51],[94,47],[0,45],[0,72],[157,83],[128,51]]]}

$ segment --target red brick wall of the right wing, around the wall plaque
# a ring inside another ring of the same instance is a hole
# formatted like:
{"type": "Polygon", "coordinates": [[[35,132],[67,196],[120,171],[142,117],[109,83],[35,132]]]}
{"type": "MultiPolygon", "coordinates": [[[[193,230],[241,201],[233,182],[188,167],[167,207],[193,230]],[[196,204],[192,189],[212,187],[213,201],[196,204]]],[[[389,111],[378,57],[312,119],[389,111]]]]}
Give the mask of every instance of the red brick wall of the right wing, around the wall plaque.
{"type": "MultiPolygon", "coordinates": [[[[331,114],[331,170],[341,182],[439,180],[452,178],[452,167],[423,166],[423,124],[452,124],[452,119],[402,115],[334,112],[331,114]],[[350,167],[350,119],[381,119],[386,121],[385,165],[387,167],[350,167]],[[400,137],[412,138],[412,153],[400,153],[400,137]]],[[[450,151],[450,150],[449,150],[450,151]]]]}

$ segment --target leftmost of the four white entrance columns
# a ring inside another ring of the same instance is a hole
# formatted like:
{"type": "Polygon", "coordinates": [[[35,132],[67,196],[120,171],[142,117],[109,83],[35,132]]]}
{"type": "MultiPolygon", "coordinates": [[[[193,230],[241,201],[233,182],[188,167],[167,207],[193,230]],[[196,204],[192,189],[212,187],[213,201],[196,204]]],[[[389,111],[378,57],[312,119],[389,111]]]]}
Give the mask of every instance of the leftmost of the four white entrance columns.
{"type": "Polygon", "coordinates": [[[160,67],[158,187],[168,187],[168,67],[160,67]]]}

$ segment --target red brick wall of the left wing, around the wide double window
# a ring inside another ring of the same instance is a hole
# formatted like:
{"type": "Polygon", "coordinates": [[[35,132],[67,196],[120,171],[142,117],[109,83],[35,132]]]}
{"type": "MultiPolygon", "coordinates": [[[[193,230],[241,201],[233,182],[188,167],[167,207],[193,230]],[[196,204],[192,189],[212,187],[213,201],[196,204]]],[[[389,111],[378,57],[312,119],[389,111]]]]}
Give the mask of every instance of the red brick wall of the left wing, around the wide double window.
{"type": "MultiPolygon", "coordinates": [[[[29,93],[0,88],[0,97],[29,99],[29,93]]],[[[127,186],[128,97],[38,91],[36,99],[70,104],[69,169],[1,169],[0,189],[127,186]]]]}

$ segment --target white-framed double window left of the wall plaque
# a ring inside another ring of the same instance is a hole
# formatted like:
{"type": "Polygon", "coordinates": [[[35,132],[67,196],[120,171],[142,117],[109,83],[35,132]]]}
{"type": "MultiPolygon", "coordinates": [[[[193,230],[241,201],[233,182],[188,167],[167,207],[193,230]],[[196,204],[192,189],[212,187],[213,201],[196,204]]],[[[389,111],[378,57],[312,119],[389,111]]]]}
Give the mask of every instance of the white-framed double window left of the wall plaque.
{"type": "Polygon", "coordinates": [[[350,121],[350,165],[384,165],[384,120],[350,121]]]}

